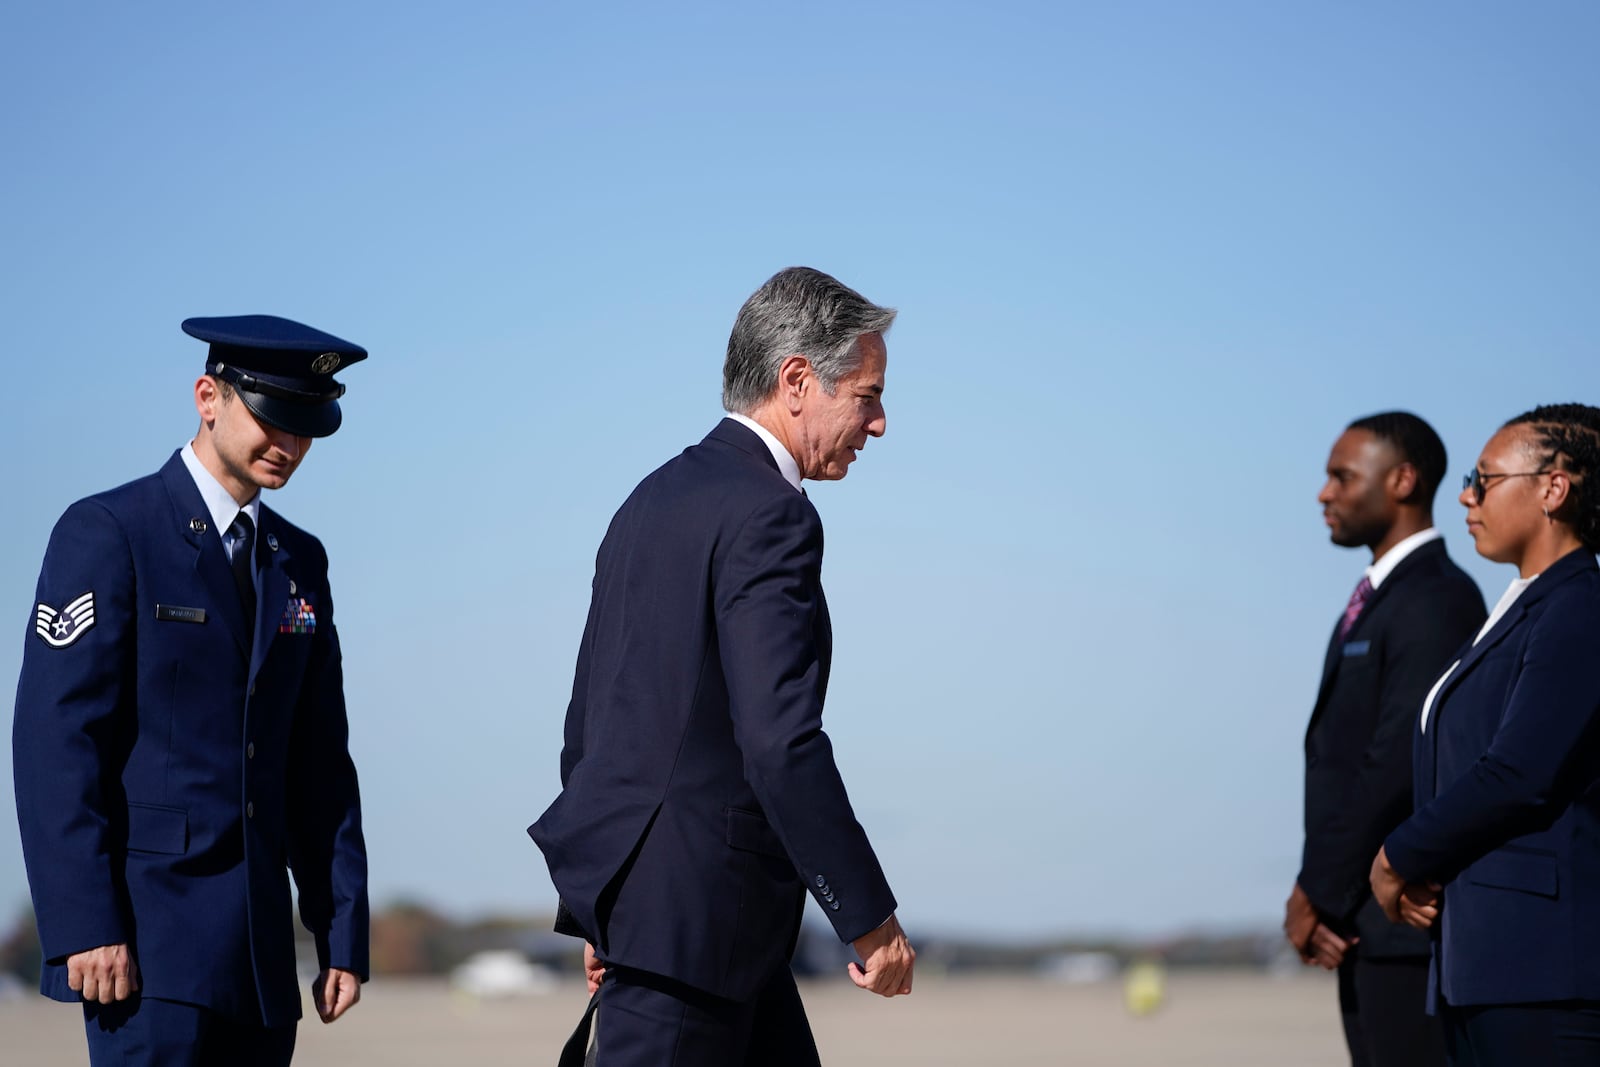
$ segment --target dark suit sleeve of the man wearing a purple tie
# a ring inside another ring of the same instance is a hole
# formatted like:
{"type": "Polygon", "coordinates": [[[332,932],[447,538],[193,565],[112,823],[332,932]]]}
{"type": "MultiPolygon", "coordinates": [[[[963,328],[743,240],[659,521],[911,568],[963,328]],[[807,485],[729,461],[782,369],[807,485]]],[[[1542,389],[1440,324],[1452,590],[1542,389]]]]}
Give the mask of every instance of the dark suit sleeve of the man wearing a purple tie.
{"type": "MultiPolygon", "coordinates": [[[[1477,609],[1482,622],[1482,606],[1477,609]]],[[[1368,872],[1384,835],[1411,814],[1411,734],[1422,701],[1470,635],[1467,606],[1413,597],[1384,633],[1378,721],[1346,801],[1306,838],[1301,888],[1323,917],[1354,920],[1371,894],[1368,872]]]]}

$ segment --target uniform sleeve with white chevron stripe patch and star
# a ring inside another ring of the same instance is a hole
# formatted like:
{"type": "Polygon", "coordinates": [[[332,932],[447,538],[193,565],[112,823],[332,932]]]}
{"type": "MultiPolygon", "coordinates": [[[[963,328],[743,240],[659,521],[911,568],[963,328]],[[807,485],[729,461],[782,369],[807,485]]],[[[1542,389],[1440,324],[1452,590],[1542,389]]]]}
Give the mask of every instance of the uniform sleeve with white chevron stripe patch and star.
{"type": "Polygon", "coordinates": [[[133,736],[134,627],[126,534],[102,504],[80,501],[50,536],[11,728],[22,854],[46,963],[130,941],[118,768],[133,736]],[[78,609],[69,613],[72,603],[78,609]],[[66,617],[75,635],[58,629],[66,617]]]}

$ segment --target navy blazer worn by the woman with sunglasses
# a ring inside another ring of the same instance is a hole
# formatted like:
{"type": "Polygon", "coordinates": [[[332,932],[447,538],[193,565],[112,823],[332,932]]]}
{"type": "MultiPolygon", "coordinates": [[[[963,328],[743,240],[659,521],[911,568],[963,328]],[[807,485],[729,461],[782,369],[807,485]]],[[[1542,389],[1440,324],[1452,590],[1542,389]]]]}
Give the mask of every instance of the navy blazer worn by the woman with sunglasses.
{"type": "Polygon", "coordinates": [[[1450,673],[1384,845],[1445,883],[1448,1003],[1600,1000],[1600,568],[1550,565],[1450,673]]]}

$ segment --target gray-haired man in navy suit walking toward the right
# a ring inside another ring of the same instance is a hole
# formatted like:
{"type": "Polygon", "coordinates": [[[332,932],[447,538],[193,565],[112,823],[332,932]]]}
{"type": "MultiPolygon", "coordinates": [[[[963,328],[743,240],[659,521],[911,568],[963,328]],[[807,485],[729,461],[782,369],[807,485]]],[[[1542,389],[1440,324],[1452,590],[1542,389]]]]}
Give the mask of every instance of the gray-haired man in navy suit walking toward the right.
{"type": "Polygon", "coordinates": [[[806,893],[858,985],[910,992],[915,953],[822,731],[822,522],[800,488],[883,435],[893,320],[818,270],[768,280],[728,341],[730,416],[600,545],[562,793],[528,829],[557,928],[603,968],[598,1067],[818,1064],[789,969],[806,893]]]}

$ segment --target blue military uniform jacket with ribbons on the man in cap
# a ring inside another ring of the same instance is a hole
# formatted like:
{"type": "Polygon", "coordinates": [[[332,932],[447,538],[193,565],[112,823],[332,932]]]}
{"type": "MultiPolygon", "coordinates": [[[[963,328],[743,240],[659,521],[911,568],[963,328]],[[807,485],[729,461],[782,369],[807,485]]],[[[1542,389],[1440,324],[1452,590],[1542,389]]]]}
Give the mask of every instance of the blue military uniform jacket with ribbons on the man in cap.
{"type": "Polygon", "coordinates": [[[293,1022],[290,869],[318,963],[366,974],[328,557],[267,507],[256,549],[251,643],[179,456],[50,536],[11,736],[48,997],[80,1000],[69,955],[128,942],[146,997],[293,1022]]]}

